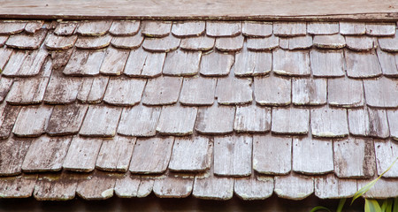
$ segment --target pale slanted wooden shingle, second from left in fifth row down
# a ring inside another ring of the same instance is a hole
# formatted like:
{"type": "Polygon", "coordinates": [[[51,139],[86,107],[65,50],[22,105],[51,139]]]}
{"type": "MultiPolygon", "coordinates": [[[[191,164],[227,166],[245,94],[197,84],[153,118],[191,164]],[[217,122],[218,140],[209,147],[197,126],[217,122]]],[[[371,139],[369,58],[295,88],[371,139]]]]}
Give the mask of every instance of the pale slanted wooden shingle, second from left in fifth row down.
{"type": "Polygon", "coordinates": [[[19,111],[12,133],[19,137],[37,137],[45,133],[53,107],[29,106],[19,111]]]}

